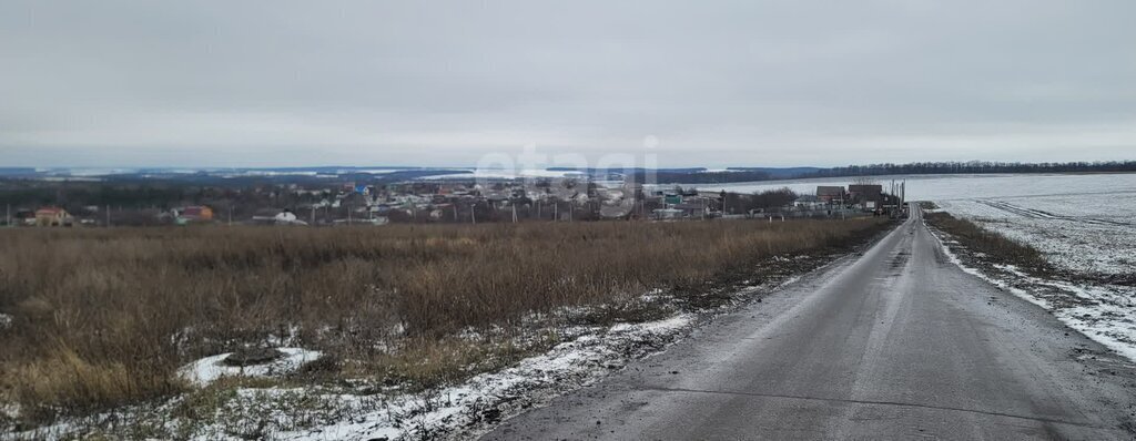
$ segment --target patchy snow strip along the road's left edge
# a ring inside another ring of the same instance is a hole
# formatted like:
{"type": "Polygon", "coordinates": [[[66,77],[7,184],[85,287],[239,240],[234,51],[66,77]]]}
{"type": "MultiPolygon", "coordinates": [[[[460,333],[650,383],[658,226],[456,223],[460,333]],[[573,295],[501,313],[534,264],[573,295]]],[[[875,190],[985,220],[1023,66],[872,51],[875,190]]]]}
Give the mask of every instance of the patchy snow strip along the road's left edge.
{"type": "MultiPolygon", "coordinates": [[[[351,421],[276,433],[279,440],[383,440],[473,436],[496,422],[583,388],[628,361],[661,350],[693,322],[690,314],[655,322],[617,324],[601,334],[560,344],[500,372],[424,396],[384,402],[351,421]],[[433,402],[432,402],[433,401],[433,402]]],[[[365,397],[332,397],[356,405],[365,397]]],[[[207,434],[202,439],[215,439],[207,434]]]]}

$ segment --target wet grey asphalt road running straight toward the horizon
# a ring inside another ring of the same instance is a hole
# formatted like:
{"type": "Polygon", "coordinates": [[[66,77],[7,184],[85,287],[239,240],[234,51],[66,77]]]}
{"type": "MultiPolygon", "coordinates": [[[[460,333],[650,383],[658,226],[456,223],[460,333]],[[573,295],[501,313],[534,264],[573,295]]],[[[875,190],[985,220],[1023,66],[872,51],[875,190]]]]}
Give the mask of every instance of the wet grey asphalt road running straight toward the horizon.
{"type": "Polygon", "coordinates": [[[484,439],[1131,440],[1134,372],[961,271],[914,217],[484,439]]]}

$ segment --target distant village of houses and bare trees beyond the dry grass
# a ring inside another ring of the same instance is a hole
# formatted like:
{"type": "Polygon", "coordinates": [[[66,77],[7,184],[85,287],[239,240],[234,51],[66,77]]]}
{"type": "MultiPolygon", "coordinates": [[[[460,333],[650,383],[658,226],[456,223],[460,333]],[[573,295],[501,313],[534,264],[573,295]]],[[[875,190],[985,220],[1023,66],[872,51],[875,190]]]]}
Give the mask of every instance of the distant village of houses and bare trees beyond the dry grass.
{"type": "Polygon", "coordinates": [[[492,181],[406,181],[399,184],[281,184],[253,188],[182,192],[154,203],[150,193],[118,204],[85,201],[35,207],[8,207],[8,224],[341,226],[391,222],[518,222],[527,220],[707,220],[744,218],[834,218],[901,215],[901,188],[879,184],[818,186],[815,194],[786,189],[758,194],[700,192],[694,187],[644,186],[586,177],[498,179],[492,181]],[[147,200],[147,197],[150,197],[147,200]],[[192,198],[192,203],[184,200],[192,198]],[[142,202],[149,202],[149,206],[142,202]],[[132,204],[133,203],[133,204],[132,204]]]}

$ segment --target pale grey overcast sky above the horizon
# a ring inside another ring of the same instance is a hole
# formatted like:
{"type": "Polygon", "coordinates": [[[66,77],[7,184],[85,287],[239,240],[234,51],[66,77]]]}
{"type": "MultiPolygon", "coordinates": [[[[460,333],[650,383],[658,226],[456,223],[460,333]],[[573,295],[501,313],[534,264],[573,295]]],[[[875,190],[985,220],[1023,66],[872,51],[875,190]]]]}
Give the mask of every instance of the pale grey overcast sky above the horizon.
{"type": "Polygon", "coordinates": [[[1136,1],[0,1],[0,166],[1136,160],[1136,1]]]}

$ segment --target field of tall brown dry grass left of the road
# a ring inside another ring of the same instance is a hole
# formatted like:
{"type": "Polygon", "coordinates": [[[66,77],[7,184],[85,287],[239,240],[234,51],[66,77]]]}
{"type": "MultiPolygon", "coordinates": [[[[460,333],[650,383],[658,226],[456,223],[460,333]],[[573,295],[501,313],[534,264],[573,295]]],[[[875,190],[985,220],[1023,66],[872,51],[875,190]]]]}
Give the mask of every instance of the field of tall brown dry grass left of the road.
{"type": "Polygon", "coordinates": [[[406,354],[433,357],[428,342],[469,326],[702,287],[883,226],[0,230],[0,312],[12,317],[0,330],[0,395],[40,418],[165,396],[183,388],[177,366],[273,336],[352,361],[351,374],[378,373],[415,363],[379,342],[419,342],[406,354]]]}

